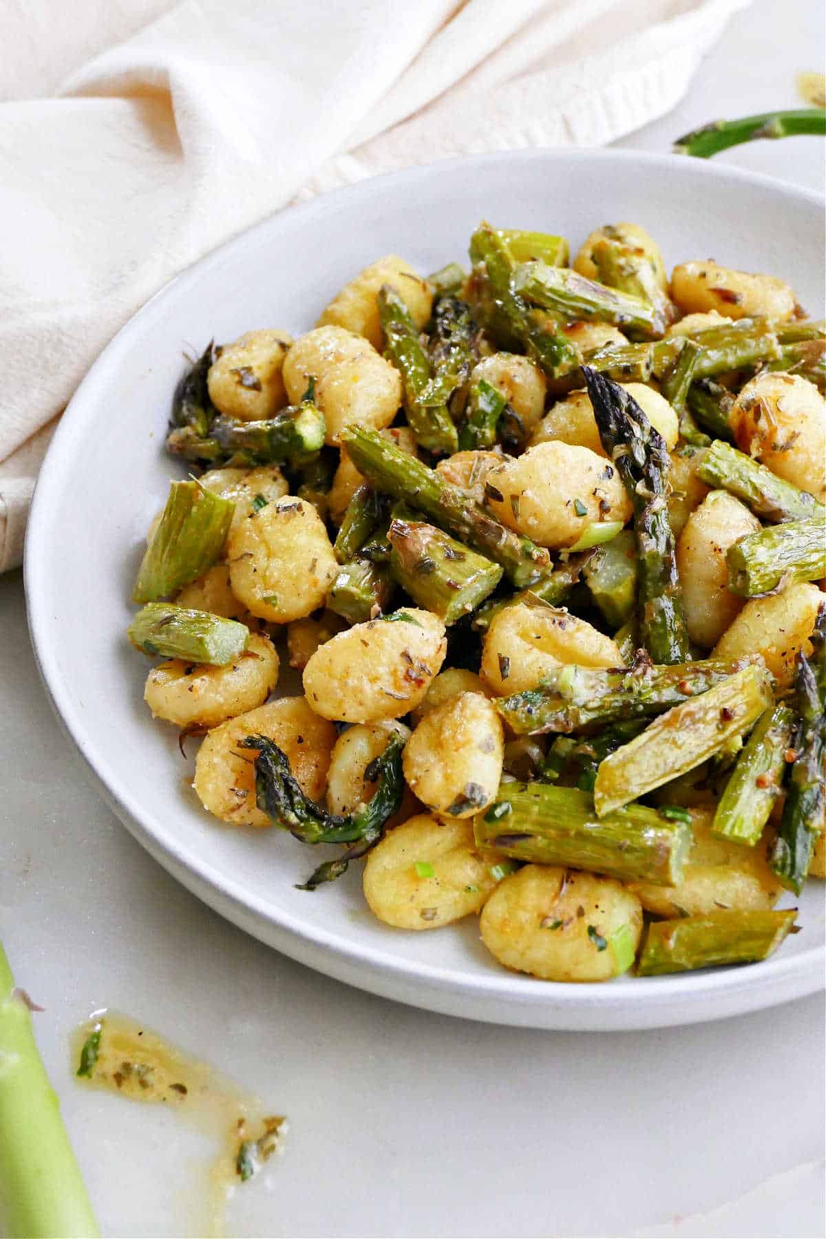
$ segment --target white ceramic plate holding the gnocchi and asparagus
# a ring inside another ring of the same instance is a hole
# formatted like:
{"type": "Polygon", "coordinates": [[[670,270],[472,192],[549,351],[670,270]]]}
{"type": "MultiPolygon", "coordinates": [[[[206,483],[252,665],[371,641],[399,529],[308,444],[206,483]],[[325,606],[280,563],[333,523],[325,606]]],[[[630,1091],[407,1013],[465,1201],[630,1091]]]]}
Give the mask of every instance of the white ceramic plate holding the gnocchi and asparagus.
{"type": "MultiPolygon", "coordinates": [[[[499,968],[476,918],[438,933],[390,929],[368,912],[359,866],[316,893],[295,890],[320,859],[280,831],[239,833],[185,787],[172,727],[151,721],[146,663],[124,629],[150,518],[175,466],[163,455],[182,353],[251,327],[311,327],[355,271],[398,252],[421,271],[462,258],[476,223],[560,232],[573,248],[633,219],[669,268],[713,255],[788,279],[822,305],[822,207],[801,190],[689,159],[625,151],[525,151],[414,169],[284,212],[163,289],[115,337],[63,415],[26,543],[35,649],[57,711],[135,838],[223,916],[295,959],[388,997],[451,1015],[544,1028],[643,1028],[784,1002],[822,984],[817,883],[802,933],[769,961],[609,985],[559,985],[499,968]]],[[[105,893],[105,892],[104,892],[105,893]]]]}

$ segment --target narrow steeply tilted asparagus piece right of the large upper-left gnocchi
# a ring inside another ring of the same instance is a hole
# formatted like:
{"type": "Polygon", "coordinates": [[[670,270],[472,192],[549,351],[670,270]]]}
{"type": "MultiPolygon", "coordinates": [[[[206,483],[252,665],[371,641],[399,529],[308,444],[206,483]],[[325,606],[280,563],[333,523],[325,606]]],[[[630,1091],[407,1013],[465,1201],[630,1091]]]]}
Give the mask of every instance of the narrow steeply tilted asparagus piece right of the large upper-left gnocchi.
{"type": "Polygon", "coordinates": [[[379,289],[379,317],[384,352],[401,374],[407,424],[416,441],[430,452],[450,456],[457,450],[458,441],[446,396],[432,383],[430,362],[416,325],[390,284],[379,289]]]}

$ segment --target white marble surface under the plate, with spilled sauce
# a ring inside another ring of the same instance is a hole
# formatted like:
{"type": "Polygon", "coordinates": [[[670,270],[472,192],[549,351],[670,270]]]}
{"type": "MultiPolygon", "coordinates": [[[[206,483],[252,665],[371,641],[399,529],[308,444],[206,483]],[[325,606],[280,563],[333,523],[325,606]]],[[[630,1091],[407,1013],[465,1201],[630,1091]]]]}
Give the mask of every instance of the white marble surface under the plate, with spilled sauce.
{"type": "MultiPolygon", "coordinates": [[[[758,0],[682,105],[622,145],[663,150],[716,115],[793,105],[822,43],[817,0],[758,0]]],[[[728,157],[822,187],[811,139],[728,157]]],[[[285,1156],[237,1193],[229,1233],[824,1233],[820,996],[611,1036],[370,997],[244,937],[133,843],[50,712],[20,574],[0,579],[0,939],[47,1007],[38,1040],[105,1234],[197,1234],[206,1161],[171,1115],[74,1083],[68,1033],[103,1005],[290,1116],[285,1156]]]]}

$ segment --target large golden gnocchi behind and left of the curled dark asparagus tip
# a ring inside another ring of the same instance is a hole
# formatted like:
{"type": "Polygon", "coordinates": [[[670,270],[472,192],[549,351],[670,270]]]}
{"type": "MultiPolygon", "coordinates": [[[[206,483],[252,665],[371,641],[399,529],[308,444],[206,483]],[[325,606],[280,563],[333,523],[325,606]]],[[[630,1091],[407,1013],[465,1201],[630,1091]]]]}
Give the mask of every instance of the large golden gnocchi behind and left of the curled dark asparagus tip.
{"type": "Polygon", "coordinates": [[[214,727],[198,750],[193,787],[204,809],[235,826],[269,826],[255,803],[254,748],[240,748],[248,736],[266,736],[290,760],[290,768],[311,800],[324,794],[336,743],[332,722],[321,719],[303,698],[280,698],[214,727]]]}

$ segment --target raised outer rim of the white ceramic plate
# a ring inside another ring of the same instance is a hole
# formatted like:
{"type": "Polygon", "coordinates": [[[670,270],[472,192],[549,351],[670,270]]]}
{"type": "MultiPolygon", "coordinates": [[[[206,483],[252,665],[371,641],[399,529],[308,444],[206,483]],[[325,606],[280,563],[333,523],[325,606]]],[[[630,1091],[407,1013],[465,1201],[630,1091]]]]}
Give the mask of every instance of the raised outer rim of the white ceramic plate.
{"type": "MultiPolygon", "coordinates": [[[[334,213],[341,203],[358,199],[378,185],[415,186],[417,181],[427,180],[433,171],[456,171],[461,169],[483,169],[487,165],[508,164],[552,164],[555,160],[573,162],[606,162],[646,165],[667,169],[675,161],[686,167],[686,156],[658,154],[651,151],[587,149],[587,147],[536,147],[520,151],[494,151],[482,155],[464,155],[446,160],[436,160],[425,165],[386,172],[369,177],[354,185],[342,186],[329,193],[321,195],[306,202],[275,212],[259,223],[235,234],[222,243],[178,275],[168,280],[155,292],[115,333],[111,341],[94,361],[74,395],[69,400],[50,444],[46,458],[35,486],[32,509],[26,532],[24,558],[24,580],[26,592],[26,612],[40,676],[64,732],[73,747],[90,771],[95,786],[103,793],[109,807],[126,826],[137,843],[159,861],[177,881],[181,881],[199,900],[211,906],[240,928],[254,934],[260,940],[301,963],[347,984],[384,996],[396,997],[399,985],[417,992],[407,992],[401,1001],[410,1005],[440,1010],[447,1014],[462,1014],[461,1006],[489,1002],[490,1015],[471,1011],[472,1018],[489,1018],[497,1023],[520,1022],[533,1027],[583,1028],[598,1027],[588,1023],[586,1016],[597,1012],[608,1022],[606,1031],[618,1027],[661,1027],[670,1023],[692,1023],[705,1020],[723,1018],[741,1011],[757,1010],[790,1001],[793,997],[815,992],[826,984],[824,961],[826,945],[812,945],[795,955],[775,955],[763,961],[759,969],[750,966],[726,968],[705,971],[702,983],[687,984],[686,974],[674,976],[635,979],[633,989],[638,999],[629,999],[627,985],[611,986],[604,984],[565,985],[554,981],[541,981],[535,978],[492,970],[490,975],[467,974],[452,968],[440,968],[428,963],[401,960],[389,950],[374,945],[363,945],[358,940],[343,940],[323,927],[296,922],[296,918],[284,911],[274,913],[271,907],[245,892],[243,886],[232,877],[219,872],[215,866],[199,861],[197,856],[177,845],[168,830],[159,829],[145,820],[140,803],[128,788],[123,788],[116,776],[107,766],[105,760],[94,751],[93,736],[87,736],[84,720],[74,707],[74,703],[63,684],[56,658],[50,652],[48,615],[45,595],[40,587],[46,572],[47,558],[46,534],[50,523],[51,479],[57,478],[61,458],[66,449],[71,449],[76,434],[74,419],[83,415],[83,405],[88,390],[94,390],[98,375],[108,366],[116,362],[124,351],[129,351],[134,333],[140,332],[144,320],[157,312],[159,302],[165,304],[175,296],[185,295],[187,285],[201,279],[213,265],[224,261],[228,254],[240,247],[255,247],[261,234],[271,229],[276,232],[285,219],[287,223],[305,217],[307,221],[324,218],[334,213]],[[253,923],[254,922],[254,923],[253,923]],[[277,939],[277,940],[276,940],[277,939]],[[337,966],[338,965],[338,966],[337,966]],[[349,975],[342,978],[342,970],[349,975]],[[719,1010],[708,1010],[721,1001],[719,1010]],[[674,1017],[675,1002],[682,1007],[679,1017],[674,1017]],[[497,1004],[506,1004],[518,1009],[526,1018],[511,1018],[502,1010],[495,1012],[497,1004]],[[622,1016],[619,1022],[612,1018],[622,1016]]],[[[750,172],[727,165],[713,165],[707,161],[692,160],[689,165],[692,175],[711,177],[753,188],[767,188],[780,192],[790,198],[802,199],[824,209],[824,196],[817,192],[791,185],[778,177],[750,172]]],[[[389,938],[389,943],[391,938],[389,938]]]]}

